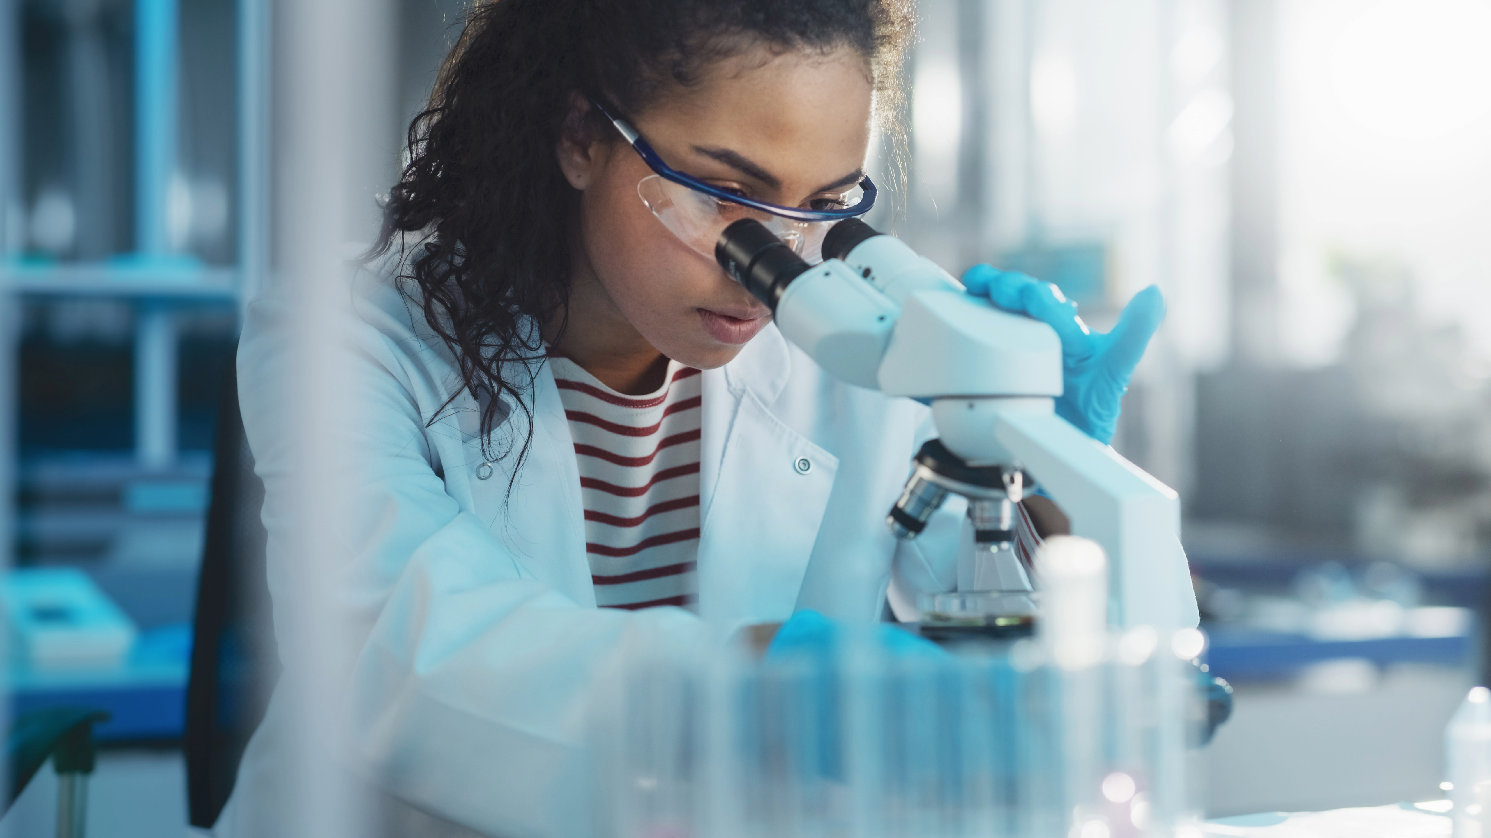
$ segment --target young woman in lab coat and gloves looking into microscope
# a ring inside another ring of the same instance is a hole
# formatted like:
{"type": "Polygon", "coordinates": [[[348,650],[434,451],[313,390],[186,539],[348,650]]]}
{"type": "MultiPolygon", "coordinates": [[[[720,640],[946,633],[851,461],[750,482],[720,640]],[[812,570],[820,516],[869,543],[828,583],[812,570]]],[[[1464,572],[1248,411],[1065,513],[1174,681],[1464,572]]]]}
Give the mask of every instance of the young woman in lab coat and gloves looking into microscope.
{"type": "MultiPolygon", "coordinates": [[[[811,255],[869,207],[912,22],[908,0],[471,12],[343,313],[347,723],[389,832],[589,834],[583,725],[629,649],[807,610],[877,620],[887,590],[905,611],[953,587],[959,504],[914,543],[884,525],[929,412],[826,376],[710,255],[741,213],[811,255]]],[[[1106,443],[1157,291],[1100,335],[1050,285],[966,282],[1057,328],[1060,410],[1106,443]]],[[[250,309],[239,361],[271,535],[294,511],[271,431],[285,310],[250,309]]],[[[271,547],[276,599],[288,561],[271,547]]],[[[279,704],[221,834],[274,834],[294,793],[279,704]]]]}

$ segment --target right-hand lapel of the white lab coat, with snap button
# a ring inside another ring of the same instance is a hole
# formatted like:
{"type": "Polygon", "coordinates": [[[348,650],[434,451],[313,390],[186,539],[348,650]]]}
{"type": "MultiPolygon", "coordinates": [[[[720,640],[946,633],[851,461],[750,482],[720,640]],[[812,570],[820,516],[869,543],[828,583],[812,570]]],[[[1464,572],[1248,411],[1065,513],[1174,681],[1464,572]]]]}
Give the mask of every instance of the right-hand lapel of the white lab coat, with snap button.
{"type": "Polygon", "coordinates": [[[835,474],[836,456],[743,395],[699,537],[701,616],[792,616],[835,474]]]}

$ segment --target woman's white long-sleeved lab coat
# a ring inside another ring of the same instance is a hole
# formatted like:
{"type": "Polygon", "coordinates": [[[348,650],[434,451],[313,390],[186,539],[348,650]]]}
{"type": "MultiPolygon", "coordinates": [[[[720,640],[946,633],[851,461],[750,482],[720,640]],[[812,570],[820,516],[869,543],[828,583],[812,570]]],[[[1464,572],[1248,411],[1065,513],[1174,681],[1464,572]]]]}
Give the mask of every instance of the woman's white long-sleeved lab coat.
{"type": "MultiPolygon", "coordinates": [[[[532,447],[507,498],[513,458],[477,477],[477,404],[462,392],[441,412],[459,389],[456,367],[389,267],[355,271],[347,310],[327,313],[328,324],[344,321],[346,383],[358,401],[356,467],[340,488],[352,510],[340,577],[361,641],[347,762],[376,789],[388,834],[586,835],[586,711],[607,699],[602,672],[629,646],[656,632],[723,637],[795,608],[872,620],[892,576],[911,601],[954,586],[960,503],[914,543],[884,525],[932,432],[929,412],[830,379],[768,327],[704,373],[698,616],[596,608],[576,455],[547,365],[532,447]]],[[[286,681],[301,644],[286,637],[285,602],[297,590],[279,537],[295,513],[286,504],[298,465],[282,438],[300,420],[280,388],[295,364],[292,315],[274,294],[255,301],[239,350],[286,681]]],[[[285,692],[282,681],[243,757],[222,837],[288,834],[277,820],[291,775],[285,692]]]]}

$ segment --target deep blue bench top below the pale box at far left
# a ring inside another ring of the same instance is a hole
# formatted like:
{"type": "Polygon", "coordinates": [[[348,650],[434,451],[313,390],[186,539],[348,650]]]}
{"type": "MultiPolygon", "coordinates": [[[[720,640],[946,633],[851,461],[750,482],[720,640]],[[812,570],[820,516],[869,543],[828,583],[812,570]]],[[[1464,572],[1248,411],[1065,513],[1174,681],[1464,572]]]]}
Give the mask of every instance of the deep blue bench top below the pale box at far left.
{"type": "Polygon", "coordinates": [[[130,661],[116,670],[10,672],[12,713],[46,707],[97,707],[113,717],[98,741],[179,740],[186,722],[191,626],[140,634],[130,661]]]}

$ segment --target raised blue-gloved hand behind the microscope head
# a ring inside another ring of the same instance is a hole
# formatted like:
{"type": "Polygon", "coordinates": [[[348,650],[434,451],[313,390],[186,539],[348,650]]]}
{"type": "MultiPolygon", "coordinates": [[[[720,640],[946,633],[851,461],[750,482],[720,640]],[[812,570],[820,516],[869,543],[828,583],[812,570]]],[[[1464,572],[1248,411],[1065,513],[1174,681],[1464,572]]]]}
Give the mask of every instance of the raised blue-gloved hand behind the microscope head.
{"type": "Polygon", "coordinates": [[[1050,282],[1023,273],[974,265],[963,274],[969,294],[989,297],[994,306],[1029,315],[1062,338],[1062,398],[1056,415],[1088,437],[1108,444],[1118,428],[1118,407],[1133,368],[1144,356],[1154,330],[1164,319],[1164,295],[1151,285],[1133,295],[1108,334],[1094,334],[1077,316],[1077,303],[1050,282]]]}

